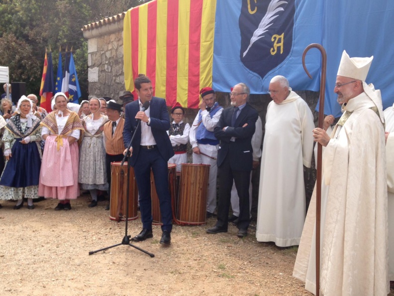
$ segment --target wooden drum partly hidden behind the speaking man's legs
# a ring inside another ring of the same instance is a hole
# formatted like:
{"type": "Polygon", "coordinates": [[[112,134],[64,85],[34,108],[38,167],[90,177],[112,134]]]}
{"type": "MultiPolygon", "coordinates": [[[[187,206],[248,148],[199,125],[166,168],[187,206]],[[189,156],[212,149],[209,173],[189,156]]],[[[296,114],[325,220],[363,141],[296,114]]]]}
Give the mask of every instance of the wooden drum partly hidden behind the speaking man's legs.
{"type": "MultiPolygon", "coordinates": [[[[164,176],[163,176],[164,177],[164,176]]],[[[173,205],[173,201],[175,200],[175,192],[177,185],[177,165],[174,163],[168,164],[168,190],[171,195],[171,205],[173,205]]],[[[155,178],[153,177],[153,171],[151,170],[151,198],[152,198],[152,224],[154,225],[162,225],[162,217],[160,213],[160,201],[159,196],[157,195],[156,186],[155,186],[155,178]]],[[[174,206],[173,206],[174,210],[174,206]]]]}

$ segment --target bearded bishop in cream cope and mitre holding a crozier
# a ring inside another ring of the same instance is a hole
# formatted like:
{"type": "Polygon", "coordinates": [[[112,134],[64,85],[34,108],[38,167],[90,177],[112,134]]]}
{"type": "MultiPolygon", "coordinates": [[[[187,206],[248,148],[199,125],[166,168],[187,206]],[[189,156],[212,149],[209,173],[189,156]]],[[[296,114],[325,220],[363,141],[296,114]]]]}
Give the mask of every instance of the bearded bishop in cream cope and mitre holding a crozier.
{"type": "MultiPolygon", "coordinates": [[[[385,128],[379,90],[365,80],[373,57],[343,51],[334,92],[343,114],[331,137],[314,129],[322,157],[320,295],[387,295],[388,216],[385,128]]],[[[312,195],[293,276],[316,294],[312,195]]]]}

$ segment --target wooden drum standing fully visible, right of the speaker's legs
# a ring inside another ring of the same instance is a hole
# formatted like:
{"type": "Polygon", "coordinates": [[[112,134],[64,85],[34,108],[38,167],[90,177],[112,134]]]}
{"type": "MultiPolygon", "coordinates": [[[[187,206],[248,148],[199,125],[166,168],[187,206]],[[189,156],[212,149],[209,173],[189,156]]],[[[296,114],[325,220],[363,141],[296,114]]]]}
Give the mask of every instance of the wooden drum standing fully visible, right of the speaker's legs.
{"type": "Polygon", "coordinates": [[[209,166],[209,164],[182,163],[176,214],[179,224],[205,224],[209,166]]]}

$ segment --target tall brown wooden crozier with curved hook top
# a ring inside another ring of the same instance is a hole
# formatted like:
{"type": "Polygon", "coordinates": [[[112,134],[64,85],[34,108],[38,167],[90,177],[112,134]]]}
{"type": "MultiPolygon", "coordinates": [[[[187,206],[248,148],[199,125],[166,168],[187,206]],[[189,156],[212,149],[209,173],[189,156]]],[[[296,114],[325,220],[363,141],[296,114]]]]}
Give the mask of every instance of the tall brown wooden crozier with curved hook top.
{"type": "MultiPolygon", "coordinates": [[[[325,80],[326,80],[326,66],[327,66],[327,55],[324,47],[317,43],[312,43],[306,46],[302,53],[302,66],[310,79],[308,70],[305,65],[305,55],[311,48],[317,48],[321,52],[322,66],[321,66],[321,79],[320,79],[320,101],[319,101],[319,119],[317,121],[317,127],[323,129],[324,121],[324,94],[325,94],[325,80]]],[[[322,146],[317,143],[317,172],[316,172],[316,296],[320,295],[320,218],[321,218],[321,152],[322,146]]]]}

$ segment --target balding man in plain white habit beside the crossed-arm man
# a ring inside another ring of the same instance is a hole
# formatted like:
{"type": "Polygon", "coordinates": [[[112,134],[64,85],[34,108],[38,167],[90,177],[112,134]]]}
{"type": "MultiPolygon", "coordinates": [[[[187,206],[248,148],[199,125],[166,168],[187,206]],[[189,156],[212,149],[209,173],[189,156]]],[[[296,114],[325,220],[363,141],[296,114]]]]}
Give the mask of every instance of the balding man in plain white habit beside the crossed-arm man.
{"type": "Polygon", "coordinates": [[[299,244],[305,220],[303,166],[310,167],[313,115],[284,76],[272,78],[261,158],[256,238],[299,244]]]}

